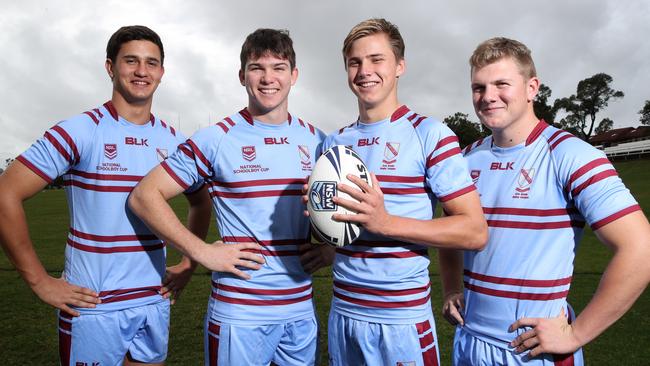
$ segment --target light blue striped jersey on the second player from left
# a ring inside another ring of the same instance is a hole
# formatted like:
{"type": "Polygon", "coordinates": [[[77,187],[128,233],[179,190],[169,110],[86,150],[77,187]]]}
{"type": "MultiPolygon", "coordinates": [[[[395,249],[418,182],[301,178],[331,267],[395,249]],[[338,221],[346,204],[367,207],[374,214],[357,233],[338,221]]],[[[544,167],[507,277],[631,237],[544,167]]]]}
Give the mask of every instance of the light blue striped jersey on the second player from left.
{"type": "Polygon", "coordinates": [[[302,186],[324,134],[299,118],[280,125],[247,109],[202,129],[163,163],[182,187],[207,182],[225,243],[257,242],[266,264],[250,280],[213,272],[209,316],[231,324],[273,324],[312,317],[311,276],[298,245],[309,241],[302,186]]]}

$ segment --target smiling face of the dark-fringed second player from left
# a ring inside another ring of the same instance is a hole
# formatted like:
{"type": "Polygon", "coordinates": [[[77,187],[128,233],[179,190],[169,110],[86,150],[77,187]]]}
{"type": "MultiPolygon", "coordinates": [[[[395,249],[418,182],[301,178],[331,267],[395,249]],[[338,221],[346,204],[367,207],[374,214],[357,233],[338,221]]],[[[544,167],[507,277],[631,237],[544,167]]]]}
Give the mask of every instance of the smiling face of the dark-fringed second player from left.
{"type": "Polygon", "coordinates": [[[292,69],[288,60],[269,53],[249,59],[244,70],[239,71],[239,81],[248,93],[250,113],[274,114],[282,116],[283,121],[287,116],[289,91],[297,79],[298,69],[292,69]]]}

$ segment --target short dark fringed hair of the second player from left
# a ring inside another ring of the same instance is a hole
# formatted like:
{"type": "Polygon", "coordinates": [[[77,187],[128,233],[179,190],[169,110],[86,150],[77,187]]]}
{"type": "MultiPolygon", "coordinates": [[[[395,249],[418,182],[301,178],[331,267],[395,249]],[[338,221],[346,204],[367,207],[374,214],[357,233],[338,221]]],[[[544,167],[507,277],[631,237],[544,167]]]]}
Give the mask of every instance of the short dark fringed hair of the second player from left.
{"type": "Polygon", "coordinates": [[[246,68],[246,61],[257,59],[265,54],[271,54],[281,59],[286,59],[291,69],[296,68],[296,53],[293,50],[293,41],[286,29],[260,28],[246,37],[241,47],[239,60],[241,69],[246,68]]]}

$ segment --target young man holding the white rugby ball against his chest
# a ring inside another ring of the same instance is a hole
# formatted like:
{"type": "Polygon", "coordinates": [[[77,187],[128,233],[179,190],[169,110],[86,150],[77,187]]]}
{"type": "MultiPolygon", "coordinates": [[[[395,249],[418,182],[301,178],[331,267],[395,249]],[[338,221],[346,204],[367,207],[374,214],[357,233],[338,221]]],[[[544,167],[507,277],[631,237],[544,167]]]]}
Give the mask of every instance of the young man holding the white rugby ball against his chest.
{"type": "Polygon", "coordinates": [[[335,202],[358,214],[335,220],[363,225],[337,249],[329,317],[332,365],[437,365],[428,247],[480,249],[487,226],[457,137],[397,98],[404,42],[384,19],[356,25],[343,43],[348,84],[359,118],[330,135],[323,150],[351,146],[373,172],[373,187],[339,189],[359,203],[335,202]],[[433,219],[440,201],[447,217],[433,219]]]}

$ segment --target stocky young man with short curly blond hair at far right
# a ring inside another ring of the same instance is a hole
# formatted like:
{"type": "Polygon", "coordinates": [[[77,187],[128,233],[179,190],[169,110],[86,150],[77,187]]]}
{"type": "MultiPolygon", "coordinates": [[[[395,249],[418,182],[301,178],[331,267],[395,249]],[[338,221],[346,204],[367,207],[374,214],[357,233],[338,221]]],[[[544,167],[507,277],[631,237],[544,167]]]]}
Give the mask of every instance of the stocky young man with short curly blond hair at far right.
{"type": "Polygon", "coordinates": [[[650,226],[605,155],[540,121],[530,50],[493,38],[470,58],[474,109],[492,136],[465,149],[490,239],[441,251],[454,364],[582,364],[580,347],[620,318],[650,278],[650,226]],[[574,318],[566,297],[585,224],[614,251],[574,318]]]}

